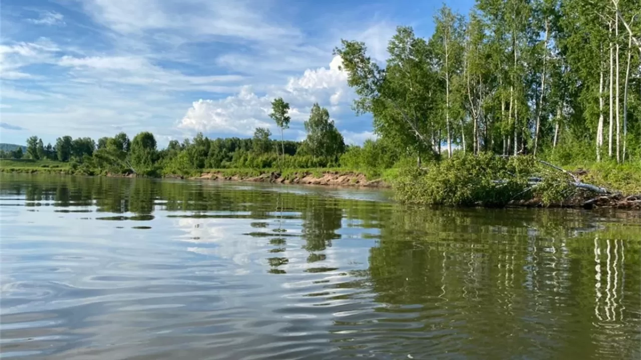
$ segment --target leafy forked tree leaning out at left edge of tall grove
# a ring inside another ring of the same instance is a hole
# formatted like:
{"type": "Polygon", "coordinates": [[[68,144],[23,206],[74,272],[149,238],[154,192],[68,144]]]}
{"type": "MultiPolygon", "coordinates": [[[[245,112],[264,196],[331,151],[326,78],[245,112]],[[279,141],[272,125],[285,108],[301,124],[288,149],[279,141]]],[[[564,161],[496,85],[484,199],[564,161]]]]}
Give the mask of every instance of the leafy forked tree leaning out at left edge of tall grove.
{"type": "Polygon", "coordinates": [[[390,58],[381,69],[363,42],[342,40],[334,50],[342,58],[341,69],[354,88],[357,114],[372,113],[374,131],[402,149],[420,154],[440,147],[435,123],[435,98],[439,87],[431,66],[432,51],[416,38],[412,28],[399,27],[388,45],[390,58]],[[438,139],[437,139],[438,138],[438,139]]]}

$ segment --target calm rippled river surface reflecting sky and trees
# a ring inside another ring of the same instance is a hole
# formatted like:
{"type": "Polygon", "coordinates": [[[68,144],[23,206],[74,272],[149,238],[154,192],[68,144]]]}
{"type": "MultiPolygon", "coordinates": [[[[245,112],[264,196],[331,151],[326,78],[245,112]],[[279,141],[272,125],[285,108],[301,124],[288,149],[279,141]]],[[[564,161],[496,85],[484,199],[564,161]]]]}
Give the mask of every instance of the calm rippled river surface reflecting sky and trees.
{"type": "Polygon", "coordinates": [[[0,177],[3,358],[634,359],[641,215],[0,177]]]}

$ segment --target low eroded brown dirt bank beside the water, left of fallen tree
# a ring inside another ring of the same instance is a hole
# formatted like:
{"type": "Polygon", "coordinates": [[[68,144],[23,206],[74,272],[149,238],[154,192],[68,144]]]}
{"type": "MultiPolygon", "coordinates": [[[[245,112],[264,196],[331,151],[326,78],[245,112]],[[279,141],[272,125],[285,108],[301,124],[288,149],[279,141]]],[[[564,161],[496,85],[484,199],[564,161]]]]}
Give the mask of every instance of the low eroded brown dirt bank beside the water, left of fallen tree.
{"type": "Polygon", "coordinates": [[[306,184],[326,186],[360,186],[368,188],[387,188],[389,184],[383,183],[381,179],[367,180],[365,175],[354,172],[324,172],[315,176],[311,172],[294,172],[281,176],[277,172],[260,174],[259,176],[226,176],[222,172],[204,172],[201,176],[192,179],[206,179],[219,181],[251,181],[254,183],[274,184],[306,184]]]}

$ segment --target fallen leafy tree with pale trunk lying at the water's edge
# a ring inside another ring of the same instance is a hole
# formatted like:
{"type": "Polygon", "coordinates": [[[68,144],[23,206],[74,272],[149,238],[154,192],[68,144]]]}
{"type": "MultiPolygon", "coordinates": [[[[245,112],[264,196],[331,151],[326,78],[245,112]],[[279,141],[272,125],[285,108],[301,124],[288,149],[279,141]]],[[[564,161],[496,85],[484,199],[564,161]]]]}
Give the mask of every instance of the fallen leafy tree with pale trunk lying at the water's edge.
{"type": "Polygon", "coordinates": [[[426,168],[403,169],[394,188],[397,200],[413,204],[585,208],[637,204],[637,197],[624,197],[617,190],[587,183],[577,174],[533,156],[458,154],[426,168]]]}

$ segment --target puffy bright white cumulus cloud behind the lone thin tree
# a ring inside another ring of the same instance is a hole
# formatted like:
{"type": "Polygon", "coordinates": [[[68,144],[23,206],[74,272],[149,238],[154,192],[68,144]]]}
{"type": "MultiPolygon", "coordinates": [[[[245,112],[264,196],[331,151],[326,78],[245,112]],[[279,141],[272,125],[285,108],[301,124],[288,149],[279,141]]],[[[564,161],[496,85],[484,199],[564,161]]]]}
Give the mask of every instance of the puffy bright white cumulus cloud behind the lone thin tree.
{"type": "Polygon", "coordinates": [[[251,135],[255,127],[272,126],[269,113],[271,101],[276,97],[290,103],[289,115],[293,122],[302,122],[309,116],[314,102],[336,106],[350,100],[352,93],[347,86],[347,74],[339,70],[341,64],[340,56],[335,56],[329,68],[307,69],[302,76],[289,78],[287,85],[271,88],[264,96],[256,95],[251,86],[245,86],[237,95],[225,99],[201,99],[187,110],[179,127],[251,135]]]}

